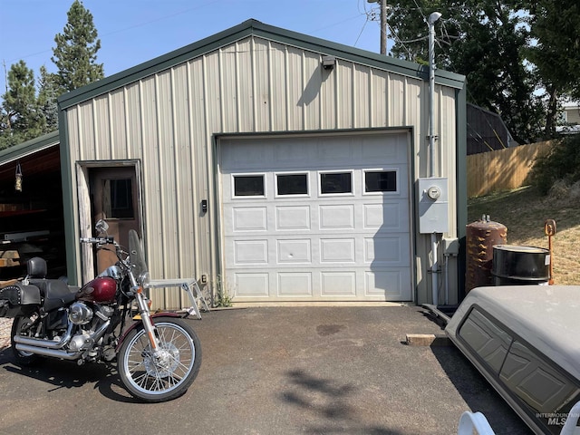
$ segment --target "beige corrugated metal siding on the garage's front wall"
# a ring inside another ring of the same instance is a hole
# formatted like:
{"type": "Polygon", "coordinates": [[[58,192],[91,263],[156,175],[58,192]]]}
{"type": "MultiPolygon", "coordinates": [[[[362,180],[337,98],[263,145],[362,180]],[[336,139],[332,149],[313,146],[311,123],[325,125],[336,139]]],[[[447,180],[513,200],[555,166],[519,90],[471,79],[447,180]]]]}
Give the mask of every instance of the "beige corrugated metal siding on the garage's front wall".
{"type": "MultiPolygon", "coordinates": [[[[72,162],[142,161],[154,278],[218,273],[214,134],[410,126],[415,176],[429,175],[428,83],[343,59],[324,70],[321,58],[250,36],[67,109],[72,162]],[[208,215],[201,199],[210,201],[208,215]]],[[[436,96],[439,175],[455,179],[455,90],[438,86],[436,96]]],[[[425,264],[428,250],[419,252],[425,264]]],[[[162,301],[182,302],[177,289],[162,301]]]]}

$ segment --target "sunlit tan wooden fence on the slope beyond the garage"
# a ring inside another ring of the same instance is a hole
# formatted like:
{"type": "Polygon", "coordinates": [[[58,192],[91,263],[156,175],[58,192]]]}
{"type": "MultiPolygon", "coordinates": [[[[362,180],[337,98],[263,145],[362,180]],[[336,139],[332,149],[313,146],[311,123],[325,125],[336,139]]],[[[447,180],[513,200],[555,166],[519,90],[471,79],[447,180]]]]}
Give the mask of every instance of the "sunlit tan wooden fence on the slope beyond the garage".
{"type": "Polygon", "coordinates": [[[468,198],[524,186],[534,160],[550,147],[546,141],[469,155],[468,198]]]}

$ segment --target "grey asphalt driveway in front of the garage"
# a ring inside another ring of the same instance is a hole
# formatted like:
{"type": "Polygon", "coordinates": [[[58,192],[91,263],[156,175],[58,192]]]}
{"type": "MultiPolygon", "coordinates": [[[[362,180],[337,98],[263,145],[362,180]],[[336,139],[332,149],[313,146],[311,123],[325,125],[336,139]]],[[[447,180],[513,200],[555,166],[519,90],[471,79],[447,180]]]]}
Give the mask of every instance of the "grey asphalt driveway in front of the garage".
{"type": "Polygon", "coordinates": [[[0,434],[453,434],[482,411],[497,434],[527,427],[417,306],[252,307],[190,320],[203,348],[179,399],[134,401],[114,367],[0,353],[0,434]]]}

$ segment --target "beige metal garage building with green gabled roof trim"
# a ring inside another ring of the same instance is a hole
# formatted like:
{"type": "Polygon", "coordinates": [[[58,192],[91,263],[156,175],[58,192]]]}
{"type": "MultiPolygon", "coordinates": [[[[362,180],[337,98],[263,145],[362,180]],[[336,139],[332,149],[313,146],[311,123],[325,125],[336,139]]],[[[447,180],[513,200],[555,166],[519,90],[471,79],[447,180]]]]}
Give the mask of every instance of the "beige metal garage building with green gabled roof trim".
{"type": "Polygon", "coordinates": [[[101,267],[76,240],[107,218],[121,239],[140,231],[152,277],[234,302],[427,303],[433,250],[439,302],[457,301],[464,78],[437,71],[430,174],[428,76],[249,20],[63,95],[69,278],[101,267]],[[436,215],[421,206],[433,175],[436,215]]]}

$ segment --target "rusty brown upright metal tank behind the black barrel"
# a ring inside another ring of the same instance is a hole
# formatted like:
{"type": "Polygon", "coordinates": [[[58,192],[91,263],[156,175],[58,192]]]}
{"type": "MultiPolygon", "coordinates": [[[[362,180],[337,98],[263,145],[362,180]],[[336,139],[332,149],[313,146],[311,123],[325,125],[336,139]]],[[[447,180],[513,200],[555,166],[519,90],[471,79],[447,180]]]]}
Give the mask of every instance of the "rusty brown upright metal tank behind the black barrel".
{"type": "Polygon", "coordinates": [[[494,245],[506,245],[507,227],[484,216],[466,227],[465,293],[476,287],[492,285],[494,245]]]}

